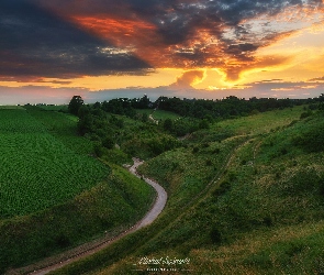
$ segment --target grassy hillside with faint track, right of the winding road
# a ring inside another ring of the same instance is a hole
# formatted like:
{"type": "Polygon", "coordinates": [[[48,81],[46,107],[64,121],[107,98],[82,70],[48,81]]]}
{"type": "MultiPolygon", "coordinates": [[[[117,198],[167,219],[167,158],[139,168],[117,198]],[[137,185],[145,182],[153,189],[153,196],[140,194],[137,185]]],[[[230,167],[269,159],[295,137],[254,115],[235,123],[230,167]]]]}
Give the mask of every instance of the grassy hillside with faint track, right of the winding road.
{"type": "Polygon", "coordinates": [[[169,196],[159,219],[54,274],[323,274],[324,114],[302,113],[214,123],[146,162],[169,196]]]}

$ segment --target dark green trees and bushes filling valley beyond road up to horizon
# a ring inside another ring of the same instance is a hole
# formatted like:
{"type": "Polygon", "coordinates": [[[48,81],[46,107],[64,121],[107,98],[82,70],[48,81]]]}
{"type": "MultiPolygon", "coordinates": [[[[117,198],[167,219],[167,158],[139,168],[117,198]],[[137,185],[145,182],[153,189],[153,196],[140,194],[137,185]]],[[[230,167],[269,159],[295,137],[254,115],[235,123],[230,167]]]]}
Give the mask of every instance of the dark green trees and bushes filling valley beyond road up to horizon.
{"type": "MultiPolygon", "coordinates": [[[[78,116],[79,134],[93,142],[97,156],[102,156],[107,150],[113,148],[116,144],[130,155],[143,153],[146,156],[155,156],[179,146],[177,138],[209,129],[215,121],[305,103],[309,105],[309,109],[303,113],[304,117],[310,116],[312,110],[324,110],[324,95],[313,99],[250,98],[248,100],[234,96],[221,100],[159,97],[154,102],[144,95],[137,99],[116,98],[93,105],[85,105],[80,96],[74,96],[68,110],[78,116]],[[138,109],[172,111],[181,118],[165,119],[156,125],[149,123],[147,113],[137,112],[138,109]],[[125,127],[126,118],[137,121],[131,123],[134,124],[132,129],[125,127]]],[[[231,133],[222,133],[217,139],[223,140],[227,135],[231,133]]]]}

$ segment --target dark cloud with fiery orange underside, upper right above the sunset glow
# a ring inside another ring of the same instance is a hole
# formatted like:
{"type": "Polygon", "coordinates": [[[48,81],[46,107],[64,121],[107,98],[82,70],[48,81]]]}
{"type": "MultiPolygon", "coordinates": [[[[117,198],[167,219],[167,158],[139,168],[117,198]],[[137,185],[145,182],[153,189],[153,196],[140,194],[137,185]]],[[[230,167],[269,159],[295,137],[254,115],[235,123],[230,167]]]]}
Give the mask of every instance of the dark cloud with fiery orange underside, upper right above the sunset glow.
{"type": "Polygon", "coordinates": [[[232,80],[246,63],[257,62],[258,48],[294,31],[271,30],[266,23],[260,26],[262,31],[255,33],[247,20],[275,16],[287,8],[315,10],[322,6],[321,0],[127,0],[126,3],[137,16],[156,25],[158,42],[169,47],[174,57],[181,57],[175,58],[174,64],[186,68],[222,67],[232,80]],[[201,32],[214,36],[217,43],[203,41],[201,32]]]}

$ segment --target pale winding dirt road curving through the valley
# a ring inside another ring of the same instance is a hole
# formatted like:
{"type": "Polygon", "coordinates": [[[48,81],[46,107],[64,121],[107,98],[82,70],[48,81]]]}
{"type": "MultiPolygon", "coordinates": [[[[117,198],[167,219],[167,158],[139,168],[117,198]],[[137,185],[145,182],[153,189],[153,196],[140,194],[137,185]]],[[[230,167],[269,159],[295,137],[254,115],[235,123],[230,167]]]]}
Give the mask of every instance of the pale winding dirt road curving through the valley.
{"type": "Polygon", "coordinates": [[[68,265],[70,263],[77,262],[83,257],[92,255],[92,254],[97,253],[98,251],[105,249],[111,243],[120,240],[122,237],[125,237],[125,235],[127,235],[132,232],[135,232],[138,229],[144,228],[144,227],[148,226],[149,223],[152,223],[158,217],[158,215],[163,211],[163,209],[165,208],[168,195],[167,195],[166,190],[160,185],[155,183],[154,180],[152,180],[149,178],[141,177],[137,174],[136,169],[141,164],[143,164],[143,162],[139,161],[138,158],[133,158],[133,161],[134,161],[134,165],[130,167],[130,172],[132,174],[134,174],[136,177],[143,178],[157,193],[157,197],[156,197],[156,200],[155,200],[153,207],[149,209],[149,211],[146,213],[146,216],[141,221],[138,221],[135,226],[133,226],[129,230],[122,232],[118,237],[110,238],[110,239],[102,239],[96,243],[91,243],[90,246],[87,246],[87,244],[86,244],[86,245],[81,245],[79,248],[76,248],[71,251],[71,255],[69,255],[69,256],[66,256],[63,254],[62,258],[58,258],[58,257],[55,257],[55,260],[47,258],[47,260],[42,261],[42,263],[38,263],[38,264],[25,266],[25,267],[18,268],[18,270],[11,270],[7,274],[8,275],[26,274],[26,273],[33,274],[33,275],[47,274],[47,273],[49,273],[52,271],[56,271],[65,265],[68,265]]]}

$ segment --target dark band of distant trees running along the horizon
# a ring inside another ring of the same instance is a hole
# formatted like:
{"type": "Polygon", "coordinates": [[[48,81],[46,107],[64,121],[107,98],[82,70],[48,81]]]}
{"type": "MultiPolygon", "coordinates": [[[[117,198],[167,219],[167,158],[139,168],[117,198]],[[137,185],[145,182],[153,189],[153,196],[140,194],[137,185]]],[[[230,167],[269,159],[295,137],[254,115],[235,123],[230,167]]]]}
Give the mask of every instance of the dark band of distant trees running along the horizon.
{"type": "MultiPolygon", "coordinates": [[[[317,109],[323,107],[323,94],[319,98],[309,99],[277,99],[277,98],[237,98],[230,96],[223,99],[180,99],[177,97],[159,97],[155,101],[144,95],[142,98],[116,98],[109,101],[96,102],[94,108],[105,112],[136,117],[136,109],[159,109],[172,111],[181,117],[197,119],[228,119],[242,116],[250,116],[258,112],[275,109],[291,108],[293,106],[310,105],[310,108],[317,109]]],[[[78,114],[78,108],[82,105],[80,97],[72,98],[69,110],[78,114]],[[75,108],[77,106],[77,108],[75,108]]]]}

